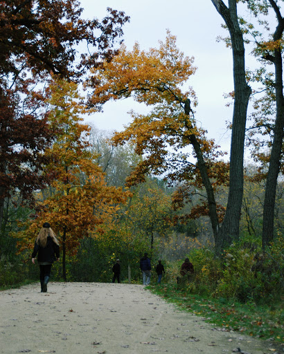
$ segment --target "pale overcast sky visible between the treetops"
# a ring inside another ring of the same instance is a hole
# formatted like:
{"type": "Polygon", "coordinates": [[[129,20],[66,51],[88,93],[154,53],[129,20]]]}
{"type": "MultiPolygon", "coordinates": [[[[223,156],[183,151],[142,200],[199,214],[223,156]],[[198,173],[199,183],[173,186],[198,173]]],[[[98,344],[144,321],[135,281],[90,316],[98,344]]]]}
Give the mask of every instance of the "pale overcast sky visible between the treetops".
{"type": "MultiPolygon", "coordinates": [[[[225,106],[224,93],[233,91],[231,50],[224,43],[218,43],[218,35],[226,32],[221,28],[222,18],[211,0],[81,0],[85,9],[83,17],[103,18],[106,8],[123,10],[130,16],[130,23],[124,26],[124,41],[131,50],[139,42],[141,49],[159,46],[158,41],[166,39],[166,29],[177,36],[177,46],[185,55],[195,57],[197,72],[190,77],[188,86],[197,93],[198,106],[195,118],[208,130],[208,137],[222,149],[229,150],[231,132],[226,121],[232,117],[232,108],[225,106]]],[[[184,86],[186,90],[186,85],[184,86]]],[[[145,113],[141,104],[130,100],[111,102],[105,105],[103,113],[87,118],[98,129],[116,129],[130,122],[127,111],[134,109],[145,113]]]]}

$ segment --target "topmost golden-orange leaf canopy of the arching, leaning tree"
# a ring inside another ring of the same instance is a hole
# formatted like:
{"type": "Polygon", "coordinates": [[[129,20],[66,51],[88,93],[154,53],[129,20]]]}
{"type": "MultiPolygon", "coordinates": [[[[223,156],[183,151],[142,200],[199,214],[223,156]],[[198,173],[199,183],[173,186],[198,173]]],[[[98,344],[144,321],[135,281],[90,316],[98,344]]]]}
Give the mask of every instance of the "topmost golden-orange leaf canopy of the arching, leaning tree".
{"type": "MultiPolygon", "coordinates": [[[[121,46],[120,53],[103,68],[92,72],[87,83],[94,89],[89,105],[100,109],[108,100],[132,95],[134,100],[152,105],[163,101],[182,100],[180,86],[195,73],[193,58],[184,57],[170,35],[160,47],[140,50],[135,44],[132,52],[121,46]]],[[[186,93],[185,95],[188,95],[186,93]]]]}

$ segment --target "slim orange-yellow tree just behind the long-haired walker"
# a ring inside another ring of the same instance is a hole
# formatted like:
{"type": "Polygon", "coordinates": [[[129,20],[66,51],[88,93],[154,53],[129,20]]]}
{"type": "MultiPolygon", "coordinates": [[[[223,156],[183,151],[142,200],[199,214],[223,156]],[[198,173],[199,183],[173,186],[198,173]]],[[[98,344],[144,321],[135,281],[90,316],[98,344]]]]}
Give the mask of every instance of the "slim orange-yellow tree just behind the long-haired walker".
{"type": "MultiPolygon", "coordinates": [[[[51,162],[46,174],[53,174],[53,192],[38,205],[28,230],[20,234],[28,244],[33,243],[39,225],[51,223],[62,245],[63,277],[66,280],[66,252],[75,254],[80,239],[89,232],[102,231],[100,225],[109,223],[125,203],[128,192],[107,186],[101,168],[89,151],[89,127],[79,116],[85,111],[75,83],[56,81],[51,85],[51,111],[48,121],[57,131],[53,146],[45,153],[51,162]]],[[[26,243],[24,243],[24,246],[26,243]]]]}

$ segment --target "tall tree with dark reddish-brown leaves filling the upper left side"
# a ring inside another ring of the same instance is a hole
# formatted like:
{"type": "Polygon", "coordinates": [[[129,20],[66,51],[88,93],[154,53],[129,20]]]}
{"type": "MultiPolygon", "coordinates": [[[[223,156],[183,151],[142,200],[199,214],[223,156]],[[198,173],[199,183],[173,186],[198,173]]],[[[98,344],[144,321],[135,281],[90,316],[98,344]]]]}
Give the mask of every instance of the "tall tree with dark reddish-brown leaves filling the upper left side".
{"type": "Polygon", "coordinates": [[[76,0],[1,1],[0,225],[10,186],[26,198],[44,182],[39,176],[40,154],[51,142],[52,132],[26,96],[34,96],[35,82],[46,80],[50,73],[78,78],[90,64],[111,59],[128,17],[110,8],[108,12],[102,21],[84,20],[76,0]],[[78,59],[78,44],[83,42],[86,53],[78,59]]]}

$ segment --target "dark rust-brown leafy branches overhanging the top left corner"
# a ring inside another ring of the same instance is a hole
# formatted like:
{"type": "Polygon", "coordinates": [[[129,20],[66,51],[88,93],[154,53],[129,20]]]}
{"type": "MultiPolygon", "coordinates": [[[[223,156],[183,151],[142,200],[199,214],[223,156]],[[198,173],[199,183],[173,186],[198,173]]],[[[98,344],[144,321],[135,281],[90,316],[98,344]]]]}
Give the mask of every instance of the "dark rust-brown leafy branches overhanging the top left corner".
{"type": "Polygon", "coordinates": [[[108,15],[85,20],[75,0],[10,0],[0,3],[0,72],[19,75],[23,65],[34,74],[48,72],[73,75],[83,66],[109,60],[115,53],[112,44],[121,37],[121,26],[128,21],[123,12],[108,9],[108,15]],[[74,66],[78,48],[87,42],[91,55],[82,53],[74,66]],[[91,50],[92,48],[92,50],[91,50]]]}

